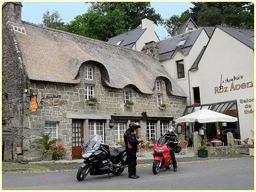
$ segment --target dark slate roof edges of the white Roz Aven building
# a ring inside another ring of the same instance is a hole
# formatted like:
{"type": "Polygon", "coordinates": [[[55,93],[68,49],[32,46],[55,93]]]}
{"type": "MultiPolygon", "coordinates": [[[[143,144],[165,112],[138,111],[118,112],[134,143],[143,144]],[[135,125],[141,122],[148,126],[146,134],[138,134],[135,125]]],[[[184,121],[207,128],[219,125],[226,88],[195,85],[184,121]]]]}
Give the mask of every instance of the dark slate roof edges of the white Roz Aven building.
{"type": "MultiPolygon", "coordinates": [[[[227,28],[224,26],[216,26],[216,28],[223,30],[224,32],[228,33],[228,35],[232,36],[236,40],[240,41],[244,45],[247,45],[249,48],[254,50],[254,42],[253,42],[254,41],[254,31],[245,30],[245,29],[227,28]]],[[[214,32],[214,30],[212,31],[212,33],[213,32],[214,32]]],[[[209,41],[211,41],[211,39],[209,41]]],[[[189,70],[197,70],[198,69],[199,62],[202,58],[202,55],[204,55],[204,51],[206,50],[206,48],[207,48],[207,46],[204,46],[202,48],[202,51],[199,53],[199,55],[197,56],[197,58],[195,59],[193,65],[190,67],[189,70]]]]}

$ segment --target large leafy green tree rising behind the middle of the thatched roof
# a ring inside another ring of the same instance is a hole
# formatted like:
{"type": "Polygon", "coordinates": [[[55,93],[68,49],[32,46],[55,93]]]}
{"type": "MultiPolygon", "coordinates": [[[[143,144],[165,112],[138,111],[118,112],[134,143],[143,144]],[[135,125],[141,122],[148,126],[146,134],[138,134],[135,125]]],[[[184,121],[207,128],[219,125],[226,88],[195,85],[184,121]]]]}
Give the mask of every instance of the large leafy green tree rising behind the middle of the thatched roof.
{"type": "Polygon", "coordinates": [[[159,24],[163,21],[150,3],[91,3],[89,10],[66,25],[66,31],[108,41],[109,38],[137,28],[141,19],[159,24]]]}

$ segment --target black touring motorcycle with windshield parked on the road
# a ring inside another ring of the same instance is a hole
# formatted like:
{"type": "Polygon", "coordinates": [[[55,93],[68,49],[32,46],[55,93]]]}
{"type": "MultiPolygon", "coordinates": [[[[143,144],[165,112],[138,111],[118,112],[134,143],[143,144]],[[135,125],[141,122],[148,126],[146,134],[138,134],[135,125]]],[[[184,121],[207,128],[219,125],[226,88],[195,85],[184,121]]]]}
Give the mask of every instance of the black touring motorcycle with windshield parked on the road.
{"type": "Polygon", "coordinates": [[[117,176],[127,168],[125,147],[109,149],[107,144],[100,142],[101,136],[95,136],[87,144],[83,144],[83,159],[76,174],[78,181],[83,181],[90,175],[109,174],[117,176]]]}

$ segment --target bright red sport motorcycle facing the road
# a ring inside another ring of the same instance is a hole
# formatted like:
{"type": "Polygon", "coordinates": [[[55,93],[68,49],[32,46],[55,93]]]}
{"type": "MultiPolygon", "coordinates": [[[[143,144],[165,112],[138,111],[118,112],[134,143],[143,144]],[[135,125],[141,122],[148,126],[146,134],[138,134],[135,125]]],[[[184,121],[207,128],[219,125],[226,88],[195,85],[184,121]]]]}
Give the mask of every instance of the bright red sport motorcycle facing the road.
{"type": "MultiPolygon", "coordinates": [[[[153,146],[153,173],[158,174],[160,169],[170,169],[172,167],[172,158],[170,156],[170,149],[167,147],[170,141],[165,137],[160,137],[153,146]]],[[[173,141],[171,141],[173,142],[173,141]]],[[[177,142],[178,143],[178,142],[177,142]]],[[[176,144],[176,142],[173,142],[176,144]]]]}

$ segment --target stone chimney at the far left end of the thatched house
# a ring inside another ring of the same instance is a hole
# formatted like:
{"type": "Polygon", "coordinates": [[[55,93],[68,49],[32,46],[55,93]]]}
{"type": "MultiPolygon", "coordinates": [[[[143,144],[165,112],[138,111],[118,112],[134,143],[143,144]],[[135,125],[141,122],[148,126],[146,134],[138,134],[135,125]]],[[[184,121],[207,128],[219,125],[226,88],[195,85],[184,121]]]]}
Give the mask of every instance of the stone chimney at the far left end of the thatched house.
{"type": "Polygon", "coordinates": [[[13,23],[21,23],[21,8],[20,2],[7,2],[2,6],[3,23],[11,21],[13,23]]]}

